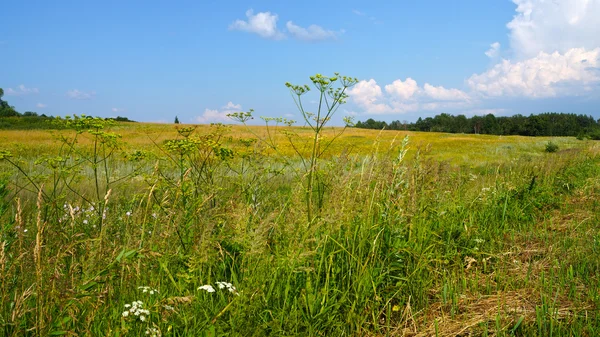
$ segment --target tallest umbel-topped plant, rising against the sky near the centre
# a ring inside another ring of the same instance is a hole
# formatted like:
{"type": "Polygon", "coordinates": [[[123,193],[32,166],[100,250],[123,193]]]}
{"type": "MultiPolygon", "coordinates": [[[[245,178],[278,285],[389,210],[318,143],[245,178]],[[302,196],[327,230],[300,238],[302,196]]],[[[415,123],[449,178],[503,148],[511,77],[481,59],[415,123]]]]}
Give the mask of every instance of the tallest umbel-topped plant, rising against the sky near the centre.
{"type": "MultiPolygon", "coordinates": [[[[319,216],[323,207],[325,185],[319,179],[319,161],[329,146],[345,131],[346,127],[352,125],[352,119],[349,117],[344,118],[344,128],[338,132],[334,131],[333,137],[322,144],[323,131],[338,108],[346,103],[348,89],[358,83],[358,79],[340,76],[339,73],[334,73],[334,76],[331,77],[316,74],[315,76],[311,76],[310,80],[319,95],[316,112],[306,110],[302,100],[303,96],[311,90],[309,85],[295,85],[289,82],[285,84],[290,90],[294,103],[302,115],[305,126],[312,131],[308,154],[302,151],[295,143],[295,139],[297,139],[295,137],[297,136],[296,134],[290,131],[284,132],[303,166],[304,172],[301,176],[304,177],[304,199],[308,224],[311,224],[319,216]]],[[[235,121],[247,125],[247,121],[253,118],[253,112],[254,110],[251,109],[248,112],[237,112],[228,116],[235,121]]],[[[291,126],[294,124],[294,121],[282,118],[263,118],[263,120],[267,125],[267,137],[261,140],[269,147],[276,149],[277,146],[273,141],[272,135],[268,132],[269,122],[275,121],[278,124],[284,123],[287,126],[291,126]]]]}

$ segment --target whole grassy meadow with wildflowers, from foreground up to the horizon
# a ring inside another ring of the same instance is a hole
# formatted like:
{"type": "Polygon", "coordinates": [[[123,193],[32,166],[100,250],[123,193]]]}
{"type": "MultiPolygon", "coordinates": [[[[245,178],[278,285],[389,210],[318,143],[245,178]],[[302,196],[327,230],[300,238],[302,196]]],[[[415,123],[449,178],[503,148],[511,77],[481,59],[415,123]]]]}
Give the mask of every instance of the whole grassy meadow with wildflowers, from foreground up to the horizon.
{"type": "Polygon", "coordinates": [[[598,142],[86,123],[0,132],[0,336],[600,334],[598,142]]]}

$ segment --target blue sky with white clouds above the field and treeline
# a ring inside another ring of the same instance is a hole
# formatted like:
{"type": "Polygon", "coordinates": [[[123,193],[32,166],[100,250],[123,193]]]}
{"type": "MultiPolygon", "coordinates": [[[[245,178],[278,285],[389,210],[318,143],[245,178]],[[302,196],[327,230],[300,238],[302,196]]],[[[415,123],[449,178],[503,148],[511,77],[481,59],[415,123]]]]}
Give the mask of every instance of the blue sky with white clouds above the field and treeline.
{"type": "MultiPolygon", "coordinates": [[[[360,81],[344,115],[600,118],[600,0],[10,1],[0,87],[18,111],[300,119],[284,83],[360,81]]],[[[8,15],[7,15],[8,14],[8,15]]],[[[313,93],[314,94],[314,93],[313,93]]],[[[304,97],[309,109],[316,97],[304,97]]]]}

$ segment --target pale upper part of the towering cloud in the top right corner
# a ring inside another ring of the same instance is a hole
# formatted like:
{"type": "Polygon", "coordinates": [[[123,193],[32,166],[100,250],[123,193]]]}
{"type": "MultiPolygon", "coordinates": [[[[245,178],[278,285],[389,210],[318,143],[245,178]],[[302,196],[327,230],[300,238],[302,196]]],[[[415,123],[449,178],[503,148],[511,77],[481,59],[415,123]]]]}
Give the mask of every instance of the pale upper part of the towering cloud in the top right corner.
{"type": "Polygon", "coordinates": [[[518,60],[540,52],[565,54],[600,47],[600,0],[513,0],[516,15],[507,24],[518,60]]]}

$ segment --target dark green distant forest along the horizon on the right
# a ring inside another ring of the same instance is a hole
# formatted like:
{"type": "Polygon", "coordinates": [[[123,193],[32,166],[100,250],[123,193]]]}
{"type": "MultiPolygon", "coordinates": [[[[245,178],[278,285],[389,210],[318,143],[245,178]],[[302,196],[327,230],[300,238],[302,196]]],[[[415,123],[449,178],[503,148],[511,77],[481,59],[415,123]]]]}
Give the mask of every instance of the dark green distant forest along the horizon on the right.
{"type": "Polygon", "coordinates": [[[514,115],[496,117],[466,117],[440,114],[435,117],[419,118],[414,123],[407,121],[376,121],[372,118],[357,122],[355,127],[362,129],[408,130],[448,133],[474,133],[488,135],[520,136],[573,136],[578,138],[600,139],[600,119],[592,116],[547,112],[539,115],[514,115]]]}

